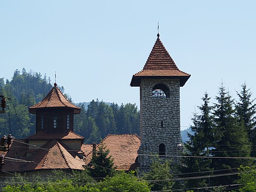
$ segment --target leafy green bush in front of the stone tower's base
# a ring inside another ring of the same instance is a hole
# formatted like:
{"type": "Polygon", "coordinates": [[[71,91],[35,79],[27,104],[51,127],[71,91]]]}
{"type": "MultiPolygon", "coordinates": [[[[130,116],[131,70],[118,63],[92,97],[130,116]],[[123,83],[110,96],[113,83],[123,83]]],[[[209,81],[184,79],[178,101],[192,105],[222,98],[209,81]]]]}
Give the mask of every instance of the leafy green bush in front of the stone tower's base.
{"type": "Polygon", "coordinates": [[[151,190],[153,191],[163,191],[168,190],[171,191],[174,182],[170,181],[172,179],[171,175],[171,160],[163,160],[159,157],[155,157],[151,159],[152,163],[150,166],[150,171],[148,173],[143,173],[143,179],[152,180],[151,190]],[[153,180],[162,180],[156,181],[153,180]]]}

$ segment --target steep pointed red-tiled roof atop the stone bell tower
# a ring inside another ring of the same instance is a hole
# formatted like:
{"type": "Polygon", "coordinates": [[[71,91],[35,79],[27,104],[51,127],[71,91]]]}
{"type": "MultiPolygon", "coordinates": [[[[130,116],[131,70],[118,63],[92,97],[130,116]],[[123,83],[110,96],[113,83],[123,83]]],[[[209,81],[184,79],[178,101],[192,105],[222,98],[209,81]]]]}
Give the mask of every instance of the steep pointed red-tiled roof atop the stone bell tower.
{"type": "Polygon", "coordinates": [[[190,77],[190,74],[178,69],[170,54],[165,49],[159,38],[148,57],[144,68],[132,76],[131,86],[138,87],[142,78],[179,78],[182,87],[190,77]]]}

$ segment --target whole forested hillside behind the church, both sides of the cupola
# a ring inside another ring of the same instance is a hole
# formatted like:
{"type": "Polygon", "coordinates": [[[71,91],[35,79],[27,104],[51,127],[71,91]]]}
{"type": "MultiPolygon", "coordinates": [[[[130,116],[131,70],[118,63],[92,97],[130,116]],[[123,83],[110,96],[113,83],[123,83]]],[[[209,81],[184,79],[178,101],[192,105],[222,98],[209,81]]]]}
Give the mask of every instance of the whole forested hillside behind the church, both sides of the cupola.
{"type": "MultiPolygon", "coordinates": [[[[0,78],[0,95],[5,95],[7,107],[0,114],[0,133],[11,133],[14,137],[24,138],[35,133],[36,116],[29,114],[29,107],[40,102],[53,87],[46,74],[25,69],[14,71],[12,80],[0,78]]],[[[64,87],[59,86],[65,94],[64,87]]],[[[86,103],[85,103],[86,104],[86,103]]],[[[81,113],[74,116],[74,131],[85,137],[88,143],[99,142],[108,134],[139,135],[139,111],[136,104],[109,104],[92,100],[89,105],[79,104],[81,113]]]]}

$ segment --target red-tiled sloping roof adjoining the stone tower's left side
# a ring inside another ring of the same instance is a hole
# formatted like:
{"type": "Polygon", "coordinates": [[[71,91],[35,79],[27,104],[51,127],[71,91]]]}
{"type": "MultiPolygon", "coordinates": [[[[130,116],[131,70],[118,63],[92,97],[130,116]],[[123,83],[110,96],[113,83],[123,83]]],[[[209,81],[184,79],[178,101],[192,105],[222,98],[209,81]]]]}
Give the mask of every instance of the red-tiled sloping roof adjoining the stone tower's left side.
{"type": "MultiPolygon", "coordinates": [[[[109,155],[114,159],[116,170],[135,170],[137,163],[135,162],[141,144],[138,135],[108,135],[100,144],[104,144],[109,149],[109,155]]],[[[99,145],[97,145],[97,148],[99,145]]],[[[92,149],[91,149],[92,150],[92,149]]],[[[92,152],[86,155],[85,164],[89,164],[92,158],[92,152]]]]}

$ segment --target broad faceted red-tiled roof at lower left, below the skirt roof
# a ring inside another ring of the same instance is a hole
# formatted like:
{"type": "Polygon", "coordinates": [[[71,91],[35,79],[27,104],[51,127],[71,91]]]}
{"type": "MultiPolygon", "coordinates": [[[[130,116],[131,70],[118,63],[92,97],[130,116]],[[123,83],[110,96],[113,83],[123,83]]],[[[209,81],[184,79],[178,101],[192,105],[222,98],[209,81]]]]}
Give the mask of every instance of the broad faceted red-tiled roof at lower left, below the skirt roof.
{"type": "Polygon", "coordinates": [[[30,151],[31,156],[26,157],[29,152],[28,145],[14,140],[10,147],[7,157],[14,158],[15,154],[19,159],[33,161],[34,163],[7,161],[3,166],[3,171],[33,171],[40,169],[84,169],[83,159],[79,159],[77,154],[57,140],[50,140],[45,145],[34,152],[30,151]]]}

